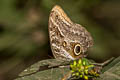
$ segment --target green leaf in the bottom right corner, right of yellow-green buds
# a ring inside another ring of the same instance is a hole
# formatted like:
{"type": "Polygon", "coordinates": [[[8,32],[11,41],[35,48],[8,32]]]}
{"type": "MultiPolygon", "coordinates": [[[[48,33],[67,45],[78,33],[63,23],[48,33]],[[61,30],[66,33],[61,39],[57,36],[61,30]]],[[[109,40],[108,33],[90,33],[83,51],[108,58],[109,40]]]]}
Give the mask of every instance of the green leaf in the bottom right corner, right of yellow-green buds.
{"type": "Polygon", "coordinates": [[[98,80],[120,80],[120,57],[112,61],[103,70],[105,72],[101,74],[98,80]]]}

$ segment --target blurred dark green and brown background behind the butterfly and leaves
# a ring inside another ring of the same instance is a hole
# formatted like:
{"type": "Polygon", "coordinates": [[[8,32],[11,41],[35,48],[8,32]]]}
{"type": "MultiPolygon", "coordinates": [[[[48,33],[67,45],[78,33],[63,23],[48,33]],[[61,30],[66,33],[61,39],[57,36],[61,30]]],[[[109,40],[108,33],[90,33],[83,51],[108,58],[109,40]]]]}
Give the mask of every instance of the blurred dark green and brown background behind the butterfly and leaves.
{"type": "Polygon", "coordinates": [[[52,56],[48,18],[56,4],[93,36],[88,58],[120,56],[120,0],[0,0],[0,80],[52,56]]]}

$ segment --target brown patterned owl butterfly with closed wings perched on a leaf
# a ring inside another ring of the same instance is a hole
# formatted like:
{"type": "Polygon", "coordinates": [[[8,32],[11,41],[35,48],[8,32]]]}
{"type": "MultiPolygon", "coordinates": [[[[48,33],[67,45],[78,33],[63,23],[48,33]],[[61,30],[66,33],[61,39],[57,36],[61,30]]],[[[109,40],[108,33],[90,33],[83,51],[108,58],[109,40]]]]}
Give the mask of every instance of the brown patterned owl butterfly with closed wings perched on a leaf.
{"type": "Polygon", "coordinates": [[[74,23],[58,5],[49,17],[51,49],[56,59],[75,60],[84,57],[93,45],[90,33],[80,24],[74,23]]]}

